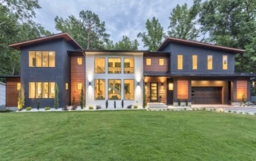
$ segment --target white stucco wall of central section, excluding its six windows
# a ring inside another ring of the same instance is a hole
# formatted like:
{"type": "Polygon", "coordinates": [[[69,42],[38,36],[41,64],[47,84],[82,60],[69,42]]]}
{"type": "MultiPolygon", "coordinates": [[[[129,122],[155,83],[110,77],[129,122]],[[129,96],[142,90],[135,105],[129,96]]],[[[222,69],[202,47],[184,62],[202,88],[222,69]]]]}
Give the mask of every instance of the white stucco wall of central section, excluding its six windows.
{"type": "MultiPolygon", "coordinates": [[[[138,108],[142,108],[143,103],[143,53],[133,53],[133,52],[86,52],[86,107],[101,105],[102,108],[106,108],[106,100],[108,99],[108,80],[109,79],[121,79],[121,100],[116,101],[116,107],[122,108],[121,102],[124,99],[124,80],[133,79],[134,80],[134,100],[124,100],[124,108],[128,105],[138,105],[138,108]],[[106,62],[106,73],[94,73],[94,59],[95,57],[105,57],[106,62]],[[121,57],[121,73],[107,73],[108,68],[108,58],[109,57],[121,57]],[[123,73],[124,57],[134,57],[134,73],[123,73]],[[105,79],[106,93],[105,100],[95,100],[94,99],[94,80],[95,79],[105,79]],[[89,82],[91,83],[89,85],[89,82]],[[138,85],[139,82],[139,85],[138,85]]],[[[108,108],[114,108],[114,100],[108,100],[108,108]]]]}

